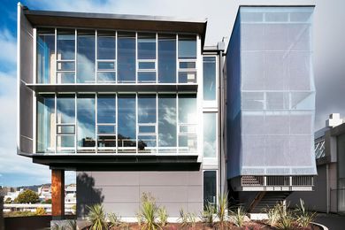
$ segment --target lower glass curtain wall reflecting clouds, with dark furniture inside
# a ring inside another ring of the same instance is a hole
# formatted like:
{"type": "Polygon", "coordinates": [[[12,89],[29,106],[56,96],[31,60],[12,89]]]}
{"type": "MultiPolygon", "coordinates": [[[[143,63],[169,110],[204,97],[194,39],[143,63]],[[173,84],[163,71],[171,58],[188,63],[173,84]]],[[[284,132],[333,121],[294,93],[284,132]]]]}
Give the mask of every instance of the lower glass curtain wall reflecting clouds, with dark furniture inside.
{"type": "MultiPolygon", "coordinates": [[[[42,153],[195,154],[197,126],[195,94],[42,94],[36,146],[42,153]]],[[[216,137],[210,140],[212,148],[216,137]]]]}

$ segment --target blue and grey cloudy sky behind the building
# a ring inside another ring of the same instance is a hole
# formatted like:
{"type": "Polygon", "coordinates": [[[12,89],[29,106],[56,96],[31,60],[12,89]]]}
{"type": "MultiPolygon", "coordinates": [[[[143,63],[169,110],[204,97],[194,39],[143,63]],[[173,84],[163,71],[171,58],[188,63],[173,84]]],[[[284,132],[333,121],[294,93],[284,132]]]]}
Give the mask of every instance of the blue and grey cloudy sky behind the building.
{"type": "MultiPolygon", "coordinates": [[[[16,154],[17,1],[0,2],[0,186],[50,182],[48,166],[16,154]]],[[[105,12],[208,19],[206,45],[229,39],[240,4],[315,4],[313,64],[316,84],[315,130],[328,114],[345,117],[345,1],[343,0],[41,0],[22,1],[33,10],[105,12]]],[[[75,173],[65,173],[65,182],[75,173]]]]}

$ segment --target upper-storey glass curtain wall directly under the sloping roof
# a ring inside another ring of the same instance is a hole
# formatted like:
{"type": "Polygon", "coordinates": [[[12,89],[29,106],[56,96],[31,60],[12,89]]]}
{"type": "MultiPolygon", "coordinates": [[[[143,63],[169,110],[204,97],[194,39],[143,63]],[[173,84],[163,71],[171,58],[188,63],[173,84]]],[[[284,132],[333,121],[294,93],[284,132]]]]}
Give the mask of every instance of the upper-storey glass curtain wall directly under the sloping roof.
{"type": "Polygon", "coordinates": [[[196,83],[196,35],[38,28],[36,47],[38,83],[196,83]]]}

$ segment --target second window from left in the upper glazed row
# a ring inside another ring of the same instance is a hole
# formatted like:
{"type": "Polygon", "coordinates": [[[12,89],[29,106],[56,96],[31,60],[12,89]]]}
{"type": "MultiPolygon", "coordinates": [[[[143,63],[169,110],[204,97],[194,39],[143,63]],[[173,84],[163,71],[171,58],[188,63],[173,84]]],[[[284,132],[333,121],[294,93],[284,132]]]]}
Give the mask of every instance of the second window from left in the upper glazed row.
{"type": "Polygon", "coordinates": [[[75,30],[58,29],[57,83],[75,82],[75,30]]]}

